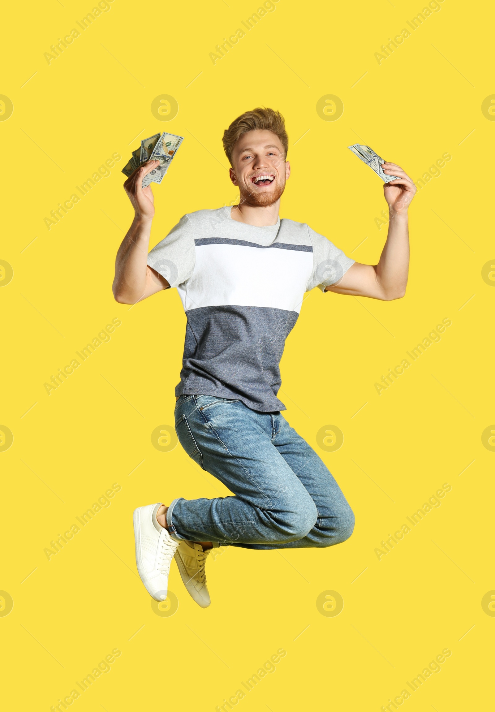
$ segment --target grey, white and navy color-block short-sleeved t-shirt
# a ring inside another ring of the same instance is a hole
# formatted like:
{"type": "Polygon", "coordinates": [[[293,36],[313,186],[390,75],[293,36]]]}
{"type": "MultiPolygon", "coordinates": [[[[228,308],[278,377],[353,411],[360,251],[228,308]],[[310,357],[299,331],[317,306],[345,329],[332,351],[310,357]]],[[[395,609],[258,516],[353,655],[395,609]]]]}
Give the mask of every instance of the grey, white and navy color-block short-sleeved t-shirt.
{"type": "Polygon", "coordinates": [[[184,215],[147,263],[177,287],[187,316],[176,396],[275,412],[286,409],[279,362],[304,293],[335,284],[354,260],[306,224],[255,227],[222,207],[184,215]]]}

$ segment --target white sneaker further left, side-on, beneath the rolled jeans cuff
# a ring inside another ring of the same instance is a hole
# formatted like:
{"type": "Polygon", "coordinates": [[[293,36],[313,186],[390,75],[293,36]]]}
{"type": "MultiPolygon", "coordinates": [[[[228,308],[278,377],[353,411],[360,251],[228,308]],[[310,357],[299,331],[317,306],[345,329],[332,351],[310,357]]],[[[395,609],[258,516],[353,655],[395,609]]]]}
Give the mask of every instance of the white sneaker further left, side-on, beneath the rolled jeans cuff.
{"type": "Polygon", "coordinates": [[[134,510],[137,573],[155,601],[167,598],[170,563],[179,546],[179,542],[157,522],[160,506],[159,502],[134,510]]]}

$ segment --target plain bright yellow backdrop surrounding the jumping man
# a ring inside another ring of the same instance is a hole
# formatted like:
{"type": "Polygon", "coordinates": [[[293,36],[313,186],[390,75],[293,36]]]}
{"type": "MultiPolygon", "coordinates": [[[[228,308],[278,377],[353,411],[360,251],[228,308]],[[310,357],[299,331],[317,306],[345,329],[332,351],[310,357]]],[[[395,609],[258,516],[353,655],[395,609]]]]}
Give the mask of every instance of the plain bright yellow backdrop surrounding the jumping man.
{"type": "Polygon", "coordinates": [[[209,53],[258,6],[114,0],[49,65],[43,53],[91,1],[4,9],[0,93],[14,104],[0,122],[0,258],[14,269],[0,290],[0,423],[14,434],[0,453],[0,589],[14,600],[0,617],[5,708],[48,712],[114,648],[122,654],[111,671],[73,703],[80,712],[213,712],[279,648],[287,654],[276,671],[235,709],[379,711],[444,648],[452,655],[442,671],[405,708],[491,704],[495,619],[481,598],[495,589],[495,454],[481,433],[495,422],[495,291],[481,269],[494,260],[495,123],[481,103],[495,93],[493,14],[444,0],[378,64],[375,52],[422,11],[420,0],[279,0],[213,64],[209,53]],[[161,94],[179,104],[170,122],[150,110],[161,94]],[[316,112],[328,94],[343,101],[335,121],[316,112]],[[226,549],[208,562],[206,610],[172,565],[179,608],[159,617],[135,570],[133,509],[225,490],[180,446],[162,453],[151,443],[157,426],[173,424],[185,317],[176,290],[134,308],[113,300],[115,253],[132,217],[120,170],[141,138],[185,137],[153,189],[156,244],[184,213],[234,201],[222,132],[258,105],[286,117],[293,174],[281,215],[361,262],[380,256],[386,226],[375,218],[386,204],[382,182],[348,145],[370,145],[415,180],[444,152],[452,160],[410,209],[405,298],[313,290],[283,355],[286,417],[343,488],[353,537],[325,550],[226,549]],[[122,160],[110,177],[48,230],[43,219],[114,152],[122,160]],[[113,318],[122,325],[110,342],[48,396],[43,384],[113,318]],[[442,318],[452,320],[442,340],[379,396],[375,382],[442,318]],[[345,438],[330,453],[316,444],[328,424],[345,438]],[[113,483],[122,488],[111,506],[48,561],[43,549],[113,483]],[[452,490],[442,506],[379,561],[380,541],[443,483],[452,490]],[[326,590],[343,597],[336,617],[316,607],[326,590]]]}

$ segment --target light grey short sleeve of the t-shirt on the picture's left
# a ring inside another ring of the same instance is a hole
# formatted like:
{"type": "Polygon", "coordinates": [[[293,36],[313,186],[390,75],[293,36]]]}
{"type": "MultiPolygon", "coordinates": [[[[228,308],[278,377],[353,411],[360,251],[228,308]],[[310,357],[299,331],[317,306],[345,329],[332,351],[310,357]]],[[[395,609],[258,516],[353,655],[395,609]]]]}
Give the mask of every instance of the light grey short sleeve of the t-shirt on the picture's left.
{"type": "Polygon", "coordinates": [[[194,234],[187,215],[184,215],[170,233],[155,245],[147,264],[165,277],[171,287],[177,287],[192,276],[196,262],[194,234]]]}

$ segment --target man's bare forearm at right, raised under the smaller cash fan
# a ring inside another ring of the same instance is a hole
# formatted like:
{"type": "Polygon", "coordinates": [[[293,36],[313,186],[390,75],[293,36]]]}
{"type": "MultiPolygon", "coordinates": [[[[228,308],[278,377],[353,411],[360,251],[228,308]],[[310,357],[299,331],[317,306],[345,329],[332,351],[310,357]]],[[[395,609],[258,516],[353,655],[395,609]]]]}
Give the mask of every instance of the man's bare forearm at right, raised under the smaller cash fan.
{"type": "Polygon", "coordinates": [[[403,297],[409,272],[409,229],[407,213],[390,214],[387,241],[375,266],[377,281],[385,298],[403,297]]]}

